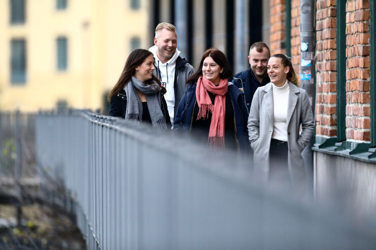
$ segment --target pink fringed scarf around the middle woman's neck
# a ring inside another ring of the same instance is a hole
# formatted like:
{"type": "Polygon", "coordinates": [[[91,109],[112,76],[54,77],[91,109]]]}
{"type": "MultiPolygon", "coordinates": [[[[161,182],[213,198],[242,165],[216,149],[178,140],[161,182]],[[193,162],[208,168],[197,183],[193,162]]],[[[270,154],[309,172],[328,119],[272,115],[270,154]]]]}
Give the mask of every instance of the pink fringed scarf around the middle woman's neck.
{"type": "Polygon", "coordinates": [[[208,142],[216,148],[225,148],[225,113],[226,93],[229,87],[227,79],[221,79],[220,84],[215,86],[211,81],[200,77],[197,81],[196,99],[199,105],[197,120],[208,118],[211,112],[211,122],[208,142]],[[208,92],[215,94],[214,105],[208,92]]]}

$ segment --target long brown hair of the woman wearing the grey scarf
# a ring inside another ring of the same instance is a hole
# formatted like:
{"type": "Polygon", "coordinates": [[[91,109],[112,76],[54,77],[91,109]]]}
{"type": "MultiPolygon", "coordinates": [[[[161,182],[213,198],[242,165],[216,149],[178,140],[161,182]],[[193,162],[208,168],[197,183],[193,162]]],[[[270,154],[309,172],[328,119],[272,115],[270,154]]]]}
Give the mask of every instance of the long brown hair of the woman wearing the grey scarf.
{"type": "MultiPolygon", "coordinates": [[[[117,83],[107,96],[108,101],[111,100],[112,96],[121,92],[124,86],[126,86],[129,83],[129,81],[131,81],[132,76],[135,75],[136,67],[140,66],[145,61],[146,57],[150,55],[153,55],[153,53],[144,49],[136,49],[131,52],[126,61],[126,65],[124,65],[119,80],[117,80],[117,83]]],[[[156,82],[161,86],[161,82],[154,75],[150,80],[147,80],[145,83],[151,84],[152,82],[156,82]]]]}

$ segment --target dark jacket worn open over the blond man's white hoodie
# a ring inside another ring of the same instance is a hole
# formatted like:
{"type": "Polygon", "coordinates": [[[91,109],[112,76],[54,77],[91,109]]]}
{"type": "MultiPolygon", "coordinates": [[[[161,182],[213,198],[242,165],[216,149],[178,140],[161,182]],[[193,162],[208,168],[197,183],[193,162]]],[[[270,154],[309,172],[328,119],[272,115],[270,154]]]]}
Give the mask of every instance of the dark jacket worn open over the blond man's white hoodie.
{"type": "MultiPolygon", "coordinates": [[[[174,80],[174,92],[175,92],[175,107],[174,114],[177,112],[177,107],[181,100],[181,97],[184,95],[185,90],[185,81],[188,79],[192,73],[195,71],[193,66],[188,63],[184,58],[180,56],[176,59],[175,65],[175,80],[174,80]]],[[[158,66],[155,65],[154,75],[161,80],[161,73],[158,70],[158,66]]]]}

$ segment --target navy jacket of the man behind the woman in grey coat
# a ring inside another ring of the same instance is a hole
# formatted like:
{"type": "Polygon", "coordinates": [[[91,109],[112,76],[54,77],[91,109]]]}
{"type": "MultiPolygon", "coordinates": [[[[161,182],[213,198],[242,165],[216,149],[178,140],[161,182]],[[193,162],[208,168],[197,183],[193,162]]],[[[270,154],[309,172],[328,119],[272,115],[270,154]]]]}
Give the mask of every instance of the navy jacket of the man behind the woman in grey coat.
{"type": "Polygon", "coordinates": [[[252,103],[253,96],[256,89],[261,86],[265,86],[270,83],[269,76],[266,75],[262,80],[262,83],[257,80],[251,68],[244,70],[234,76],[232,83],[240,89],[245,95],[245,105],[247,110],[250,110],[250,104],[252,103]]]}

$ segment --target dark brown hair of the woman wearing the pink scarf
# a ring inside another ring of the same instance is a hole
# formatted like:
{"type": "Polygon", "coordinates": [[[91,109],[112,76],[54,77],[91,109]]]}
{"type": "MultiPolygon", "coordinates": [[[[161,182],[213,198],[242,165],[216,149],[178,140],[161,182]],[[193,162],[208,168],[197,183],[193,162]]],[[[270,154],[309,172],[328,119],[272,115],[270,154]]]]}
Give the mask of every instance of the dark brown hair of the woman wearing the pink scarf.
{"type": "Polygon", "coordinates": [[[215,63],[223,68],[223,72],[220,74],[221,79],[228,79],[229,81],[232,79],[232,69],[225,54],[218,49],[208,49],[202,55],[200,65],[197,67],[195,73],[193,73],[185,83],[197,83],[197,80],[202,76],[202,65],[204,64],[204,60],[208,56],[213,58],[215,63]]]}

